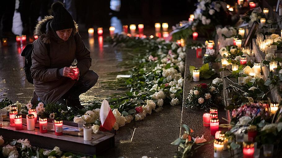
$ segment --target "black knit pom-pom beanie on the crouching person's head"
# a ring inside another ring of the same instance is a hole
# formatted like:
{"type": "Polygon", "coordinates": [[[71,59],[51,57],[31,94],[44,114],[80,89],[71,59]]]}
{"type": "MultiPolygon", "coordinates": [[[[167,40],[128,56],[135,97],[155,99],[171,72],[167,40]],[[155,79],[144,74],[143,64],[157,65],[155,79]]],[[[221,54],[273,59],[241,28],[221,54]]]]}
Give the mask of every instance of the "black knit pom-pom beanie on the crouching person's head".
{"type": "Polygon", "coordinates": [[[62,2],[57,1],[53,3],[52,11],[54,12],[54,18],[51,26],[54,31],[74,28],[73,17],[66,10],[62,2]]]}

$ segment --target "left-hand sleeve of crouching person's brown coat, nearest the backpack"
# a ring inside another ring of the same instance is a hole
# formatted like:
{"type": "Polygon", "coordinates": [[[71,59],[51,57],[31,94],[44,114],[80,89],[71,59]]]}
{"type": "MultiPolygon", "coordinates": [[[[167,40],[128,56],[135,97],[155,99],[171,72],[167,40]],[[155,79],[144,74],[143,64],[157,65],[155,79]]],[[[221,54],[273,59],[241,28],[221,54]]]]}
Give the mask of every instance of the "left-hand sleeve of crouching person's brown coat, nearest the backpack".
{"type": "Polygon", "coordinates": [[[39,82],[55,81],[60,78],[58,76],[58,69],[50,69],[50,58],[44,43],[40,40],[36,40],[33,43],[34,49],[31,54],[32,66],[31,76],[33,79],[39,82]]]}

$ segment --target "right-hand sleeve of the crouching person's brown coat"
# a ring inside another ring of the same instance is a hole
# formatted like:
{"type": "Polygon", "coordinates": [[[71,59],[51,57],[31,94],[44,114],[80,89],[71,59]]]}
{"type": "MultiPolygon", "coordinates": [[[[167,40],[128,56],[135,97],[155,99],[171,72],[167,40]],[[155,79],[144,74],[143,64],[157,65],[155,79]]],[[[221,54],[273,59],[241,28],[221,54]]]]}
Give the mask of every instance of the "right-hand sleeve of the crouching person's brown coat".
{"type": "Polygon", "coordinates": [[[77,67],[79,68],[80,75],[86,73],[91,66],[92,59],[90,58],[90,51],[84,45],[78,32],[74,35],[76,42],[75,58],[77,59],[77,67]]]}

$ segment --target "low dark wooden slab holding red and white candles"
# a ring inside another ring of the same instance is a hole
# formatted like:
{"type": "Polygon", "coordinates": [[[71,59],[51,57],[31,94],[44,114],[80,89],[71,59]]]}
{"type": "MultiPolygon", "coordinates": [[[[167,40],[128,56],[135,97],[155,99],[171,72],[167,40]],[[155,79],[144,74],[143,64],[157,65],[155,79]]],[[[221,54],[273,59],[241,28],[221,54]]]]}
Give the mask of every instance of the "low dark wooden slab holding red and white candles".
{"type": "Polygon", "coordinates": [[[40,133],[39,123],[37,123],[35,130],[27,130],[26,119],[23,119],[23,130],[15,130],[15,127],[10,127],[10,122],[4,120],[0,133],[5,139],[29,139],[33,146],[48,149],[58,146],[62,151],[86,155],[94,155],[114,147],[114,134],[108,132],[92,133],[92,140],[84,141],[83,132],[63,131],[63,135],[56,136],[52,131],[52,123],[48,123],[47,129],[47,133],[40,133]]]}

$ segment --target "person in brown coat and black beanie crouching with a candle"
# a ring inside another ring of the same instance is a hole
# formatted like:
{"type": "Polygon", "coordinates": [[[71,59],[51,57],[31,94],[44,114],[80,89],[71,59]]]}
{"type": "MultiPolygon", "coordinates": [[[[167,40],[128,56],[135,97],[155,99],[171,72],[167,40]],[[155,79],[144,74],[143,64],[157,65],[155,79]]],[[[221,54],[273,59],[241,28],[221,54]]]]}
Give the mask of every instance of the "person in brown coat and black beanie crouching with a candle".
{"type": "Polygon", "coordinates": [[[34,35],[32,66],[30,68],[35,94],[44,103],[65,103],[69,107],[82,109],[80,94],[87,92],[97,83],[98,75],[89,70],[90,51],[78,34],[78,26],[61,2],[52,5],[54,17],[39,21],[34,35]],[[70,69],[77,60],[78,74],[74,80],[74,70],[70,69]]]}

